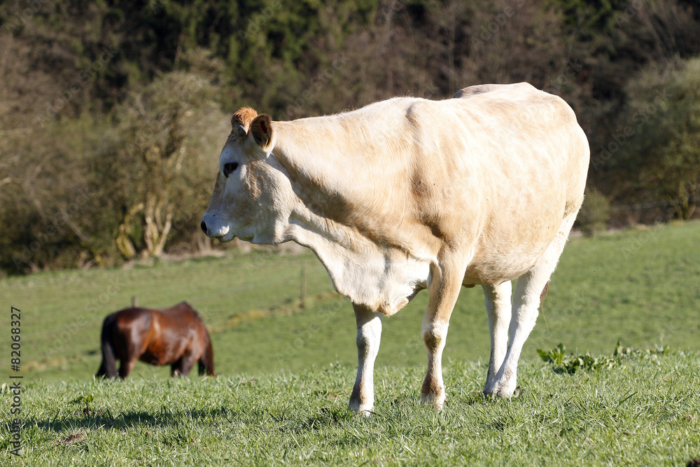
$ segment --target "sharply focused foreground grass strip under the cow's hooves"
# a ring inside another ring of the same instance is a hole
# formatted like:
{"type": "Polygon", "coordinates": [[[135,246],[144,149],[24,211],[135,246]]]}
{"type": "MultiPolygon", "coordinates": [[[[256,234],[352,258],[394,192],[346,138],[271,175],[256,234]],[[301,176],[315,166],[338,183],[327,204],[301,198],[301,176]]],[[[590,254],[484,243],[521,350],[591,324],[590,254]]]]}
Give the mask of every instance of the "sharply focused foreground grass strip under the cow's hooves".
{"type": "MultiPolygon", "coordinates": [[[[685,465],[699,455],[700,354],[557,375],[521,365],[512,400],[480,393],[486,365],[451,363],[443,412],[422,368],[382,369],[376,413],[346,409],[354,368],[260,379],[31,382],[25,465],[685,465]],[[85,404],[81,398],[90,398],[85,404]]],[[[4,430],[3,430],[4,431],[4,430]]],[[[8,465],[7,443],[0,462],[8,465]]]]}

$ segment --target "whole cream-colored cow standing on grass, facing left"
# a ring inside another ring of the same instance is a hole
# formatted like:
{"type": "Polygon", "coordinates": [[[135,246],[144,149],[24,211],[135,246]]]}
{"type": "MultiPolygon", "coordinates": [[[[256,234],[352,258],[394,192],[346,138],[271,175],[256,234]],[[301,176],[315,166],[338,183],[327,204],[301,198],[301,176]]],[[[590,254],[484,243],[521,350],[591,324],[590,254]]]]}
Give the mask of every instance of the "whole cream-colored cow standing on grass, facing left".
{"type": "Polygon", "coordinates": [[[583,201],[589,146],[563,100],[526,83],[481,85],[290,122],[244,108],[231,123],[202,230],[316,253],[353,302],[351,408],[374,407],[381,317],[423,288],[421,400],[442,408],[449,316],[461,286],[477,284],[491,330],[484,393],[512,396],[540,293],[583,201]]]}

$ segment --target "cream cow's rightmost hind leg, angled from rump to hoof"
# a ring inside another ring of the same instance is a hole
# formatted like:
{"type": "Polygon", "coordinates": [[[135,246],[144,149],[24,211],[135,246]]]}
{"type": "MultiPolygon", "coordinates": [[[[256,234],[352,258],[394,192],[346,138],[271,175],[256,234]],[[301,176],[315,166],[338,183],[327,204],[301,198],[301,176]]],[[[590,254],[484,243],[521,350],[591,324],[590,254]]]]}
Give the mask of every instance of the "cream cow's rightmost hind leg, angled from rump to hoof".
{"type": "Polygon", "coordinates": [[[513,312],[510,321],[510,344],[503,365],[496,377],[486,382],[484,393],[498,397],[510,397],[517,386],[517,366],[522,348],[535,327],[540,295],[554,272],[561,251],[566,244],[576,213],[564,218],[554,240],[531,270],[519,277],[513,293],[513,312]]]}

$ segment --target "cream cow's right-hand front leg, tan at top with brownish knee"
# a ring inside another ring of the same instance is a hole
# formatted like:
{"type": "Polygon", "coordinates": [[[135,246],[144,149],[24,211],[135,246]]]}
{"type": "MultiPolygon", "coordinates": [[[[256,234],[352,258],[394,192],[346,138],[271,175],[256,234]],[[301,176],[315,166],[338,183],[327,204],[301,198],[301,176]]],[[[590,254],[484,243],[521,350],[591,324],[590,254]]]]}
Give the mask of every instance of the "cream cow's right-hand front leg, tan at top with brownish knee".
{"type": "MultiPolygon", "coordinates": [[[[433,268],[431,268],[433,269],[433,268]]],[[[445,392],[442,382],[442,350],[447,340],[449,316],[457,301],[462,286],[463,272],[456,267],[443,267],[442,271],[434,267],[433,281],[430,284],[430,302],[423,316],[423,342],[428,350],[428,371],[421,388],[421,402],[432,404],[442,410],[445,392]]]]}

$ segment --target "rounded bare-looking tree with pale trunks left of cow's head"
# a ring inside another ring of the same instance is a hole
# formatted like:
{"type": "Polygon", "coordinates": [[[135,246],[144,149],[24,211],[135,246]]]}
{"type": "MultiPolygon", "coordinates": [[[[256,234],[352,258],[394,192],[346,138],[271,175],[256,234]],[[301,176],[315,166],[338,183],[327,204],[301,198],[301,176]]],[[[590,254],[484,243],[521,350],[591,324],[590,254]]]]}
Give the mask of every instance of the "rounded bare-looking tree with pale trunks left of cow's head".
{"type": "Polygon", "coordinates": [[[92,164],[119,218],[115,239],[125,258],[160,256],[174,223],[204,211],[229,130],[215,94],[201,76],[174,71],[114,111],[117,130],[92,164]]]}

